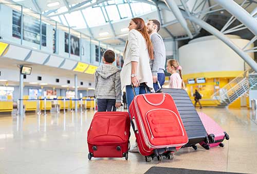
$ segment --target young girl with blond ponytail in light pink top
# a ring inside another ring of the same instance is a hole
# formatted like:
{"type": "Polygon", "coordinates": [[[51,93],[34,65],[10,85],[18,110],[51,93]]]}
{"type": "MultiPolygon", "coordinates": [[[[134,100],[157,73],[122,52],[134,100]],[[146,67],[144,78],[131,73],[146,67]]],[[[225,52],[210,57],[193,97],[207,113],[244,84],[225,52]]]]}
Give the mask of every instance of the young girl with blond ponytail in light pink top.
{"type": "Polygon", "coordinates": [[[182,78],[182,67],[175,59],[169,59],[167,61],[167,71],[171,73],[169,88],[185,89],[185,83],[182,78]],[[179,73],[177,73],[177,71],[179,73]]]}

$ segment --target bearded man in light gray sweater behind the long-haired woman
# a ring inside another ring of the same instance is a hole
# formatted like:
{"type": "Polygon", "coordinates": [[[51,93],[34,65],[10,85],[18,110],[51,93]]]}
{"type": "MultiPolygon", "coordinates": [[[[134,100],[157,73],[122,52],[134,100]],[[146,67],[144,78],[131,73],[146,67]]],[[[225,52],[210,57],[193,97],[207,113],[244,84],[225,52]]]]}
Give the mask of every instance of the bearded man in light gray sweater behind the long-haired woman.
{"type": "Polygon", "coordinates": [[[154,59],[150,60],[150,67],[153,75],[154,90],[157,91],[159,86],[157,80],[162,86],[165,81],[165,63],[166,63],[166,49],[162,37],[158,34],[160,30],[160,22],[156,19],[148,20],[147,30],[154,49],[154,59]]]}

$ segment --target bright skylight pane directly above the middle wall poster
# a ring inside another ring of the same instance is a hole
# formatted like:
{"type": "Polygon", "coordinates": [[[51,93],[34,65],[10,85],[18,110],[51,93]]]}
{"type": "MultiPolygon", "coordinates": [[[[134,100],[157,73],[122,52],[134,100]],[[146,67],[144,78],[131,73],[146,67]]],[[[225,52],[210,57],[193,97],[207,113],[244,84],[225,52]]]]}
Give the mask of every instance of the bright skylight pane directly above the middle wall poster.
{"type": "Polygon", "coordinates": [[[74,29],[86,28],[86,23],[80,11],[65,14],[69,26],[74,29]]]}

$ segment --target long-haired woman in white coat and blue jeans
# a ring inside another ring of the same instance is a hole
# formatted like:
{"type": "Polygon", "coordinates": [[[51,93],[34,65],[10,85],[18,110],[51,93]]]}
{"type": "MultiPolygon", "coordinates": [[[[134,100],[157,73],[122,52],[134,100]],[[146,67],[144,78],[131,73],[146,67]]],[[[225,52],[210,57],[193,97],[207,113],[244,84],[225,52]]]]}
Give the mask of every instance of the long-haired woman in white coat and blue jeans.
{"type": "MultiPolygon", "coordinates": [[[[134,98],[132,84],[136,95],[145,94],[144,86],[148,91],[153,89],[150,58],[154,58],[153,46],[142,18],[133,18],[128,26],[128,39],[123,57],[124,64],[120,73],[121,88],[126,90],[127,108],[134,98]]],[[[133,129],[134,125],[132,124],[133,129]]],[[[138,151],[137,144],[130,151],[138,151]]]]}

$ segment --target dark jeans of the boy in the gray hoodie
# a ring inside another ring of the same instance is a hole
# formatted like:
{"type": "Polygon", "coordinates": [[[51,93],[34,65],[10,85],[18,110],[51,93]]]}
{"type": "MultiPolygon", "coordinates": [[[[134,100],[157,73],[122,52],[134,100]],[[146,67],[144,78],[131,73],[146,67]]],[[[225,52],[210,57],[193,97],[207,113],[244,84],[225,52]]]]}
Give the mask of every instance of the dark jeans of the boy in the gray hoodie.
{"type": "Polygon", "coordinates": [[[116,111],[115,103],[116,103],[115,99],[98,98],[97,99],[98,112],[116,111]]]}

